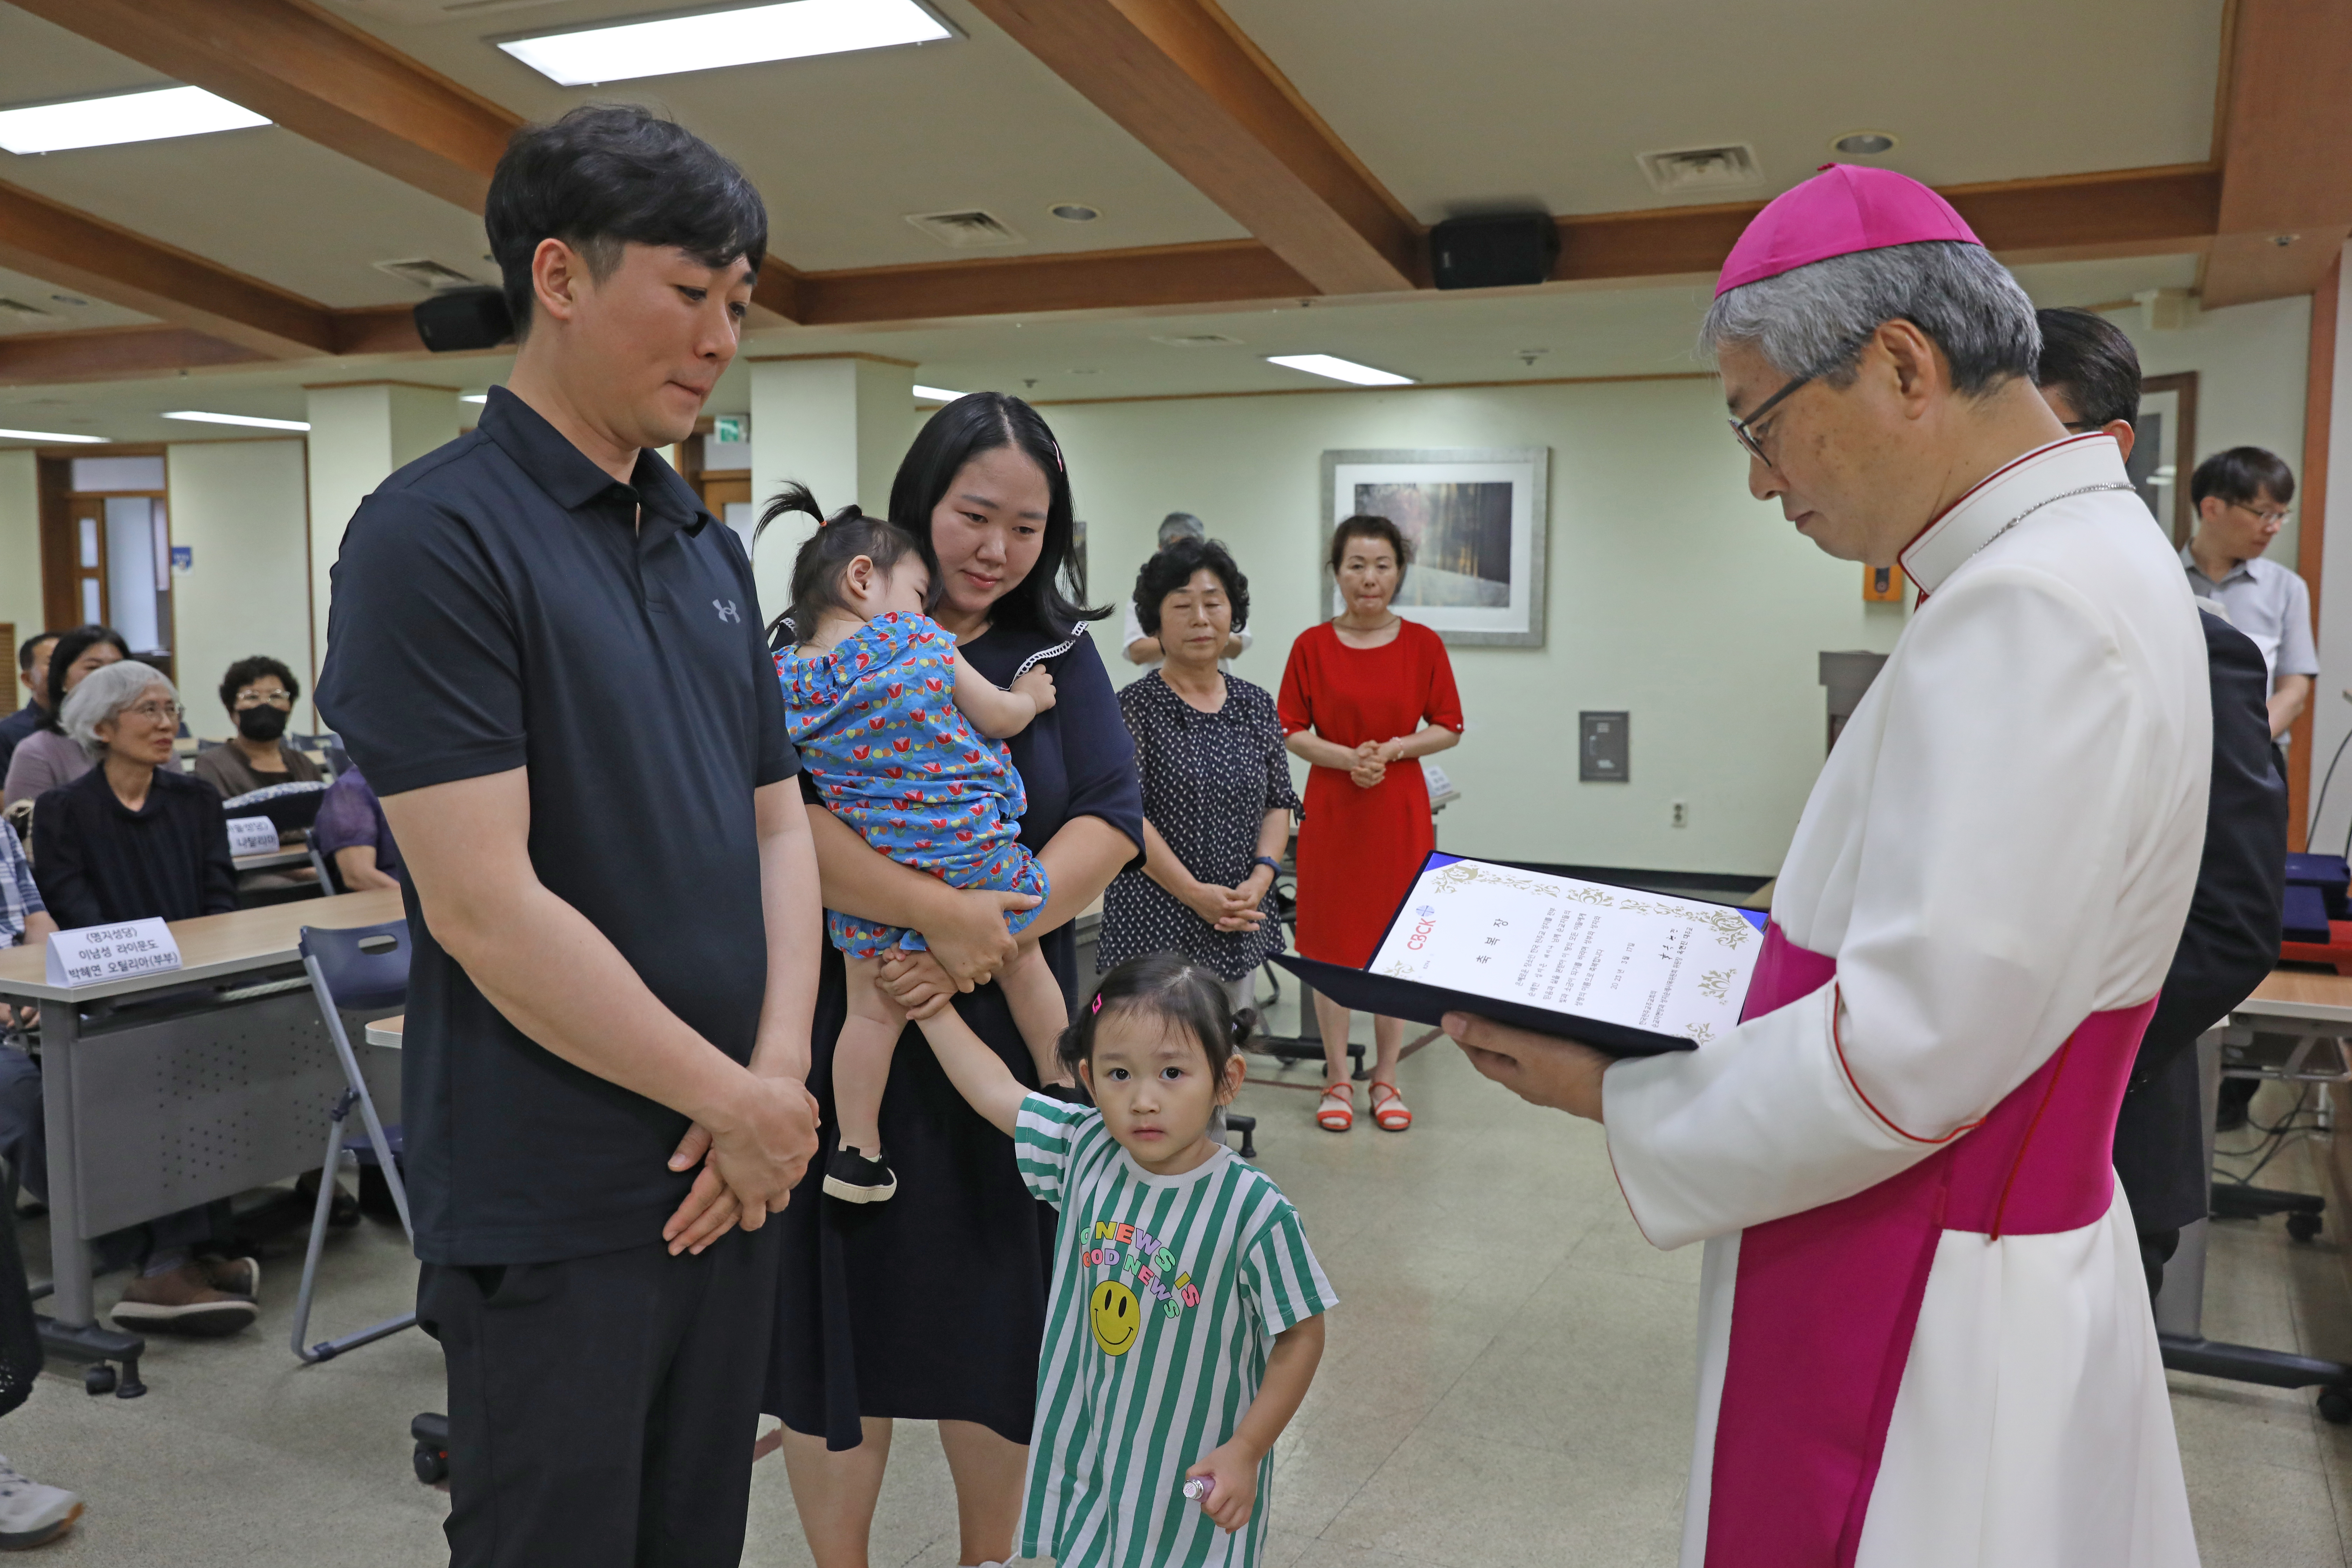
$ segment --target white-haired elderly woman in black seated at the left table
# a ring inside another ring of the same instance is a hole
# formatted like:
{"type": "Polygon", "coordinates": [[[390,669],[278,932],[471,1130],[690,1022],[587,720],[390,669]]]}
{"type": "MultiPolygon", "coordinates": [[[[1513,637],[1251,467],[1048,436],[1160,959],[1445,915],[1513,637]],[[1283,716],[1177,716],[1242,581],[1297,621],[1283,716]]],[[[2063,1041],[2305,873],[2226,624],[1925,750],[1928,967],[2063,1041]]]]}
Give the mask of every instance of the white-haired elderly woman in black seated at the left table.
{"type": "MultiPolygon", "coordinates": [[[[238,907],[228,827],[212,785],[174,773],[179,693],[160,670],[120,661],[75,684],[59,719],[92,769],[33,804],[33,877],[64,929],[127,919],[188,919],[238,907]]],[[[40,1079],[0,1074],[0,1150],[26,1190],[47,1187],[40,1079]]],[[[235,1333],[254,1321],[261,1269],[249,1258],[198,1255],[228,1241],[226,1204],[205,1204],[99,1239],[106,1262],[132,1262],[113,1316],[134,1333],[235,1333]]]]}

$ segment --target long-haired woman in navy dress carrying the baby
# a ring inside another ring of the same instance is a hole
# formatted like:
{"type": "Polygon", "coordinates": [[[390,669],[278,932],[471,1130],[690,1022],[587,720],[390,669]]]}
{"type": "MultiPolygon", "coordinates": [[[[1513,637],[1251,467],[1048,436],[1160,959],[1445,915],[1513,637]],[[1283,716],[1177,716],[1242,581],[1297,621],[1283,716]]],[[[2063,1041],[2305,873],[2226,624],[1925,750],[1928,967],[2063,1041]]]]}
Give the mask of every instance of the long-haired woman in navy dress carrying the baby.
{"type": "MultiPolygon", "coordinates": [[[[1014,736],[1028,790],[1021,844],[1047,875],[1030,924],[1073,987],[1070,922],[1143,846],[1136,750],[1103,658],[1082,635],[1070,480],[1047,423],[1018,397],[971,393],[931,416],[889,494],[889,520],[927,541],[931,618],[997,686],[1047,670],[1056,703],[1014,736]]],[[[1011,961],[1004,912],[1023,893],[957,891],[870,849],[809,806],[823,903],[920,931],[929,952],[884,964],[913,1018],[953,1004],[1025,1086],[1037,1067],[990,980],[1011,961]]],[[[833,1046],[844,1018],[842,959],[823,947],[809,1088],[833,1152],[833,1046]]],[[[955,1476],[964,1563],[1011,1554],[1044,1340],[1054,1215],[1028,1194],[1014,1143],[948,1084],[910,1030],[882,1093],[882,1145],[898,1173],[889,1204],[823,1204],[809,1175],[779,1218],[783,1274],[762,1410],[783,1418],[793,1502],[816,1568],[863,1568],[891,1420],[936,1420],[955,1476]]]]}

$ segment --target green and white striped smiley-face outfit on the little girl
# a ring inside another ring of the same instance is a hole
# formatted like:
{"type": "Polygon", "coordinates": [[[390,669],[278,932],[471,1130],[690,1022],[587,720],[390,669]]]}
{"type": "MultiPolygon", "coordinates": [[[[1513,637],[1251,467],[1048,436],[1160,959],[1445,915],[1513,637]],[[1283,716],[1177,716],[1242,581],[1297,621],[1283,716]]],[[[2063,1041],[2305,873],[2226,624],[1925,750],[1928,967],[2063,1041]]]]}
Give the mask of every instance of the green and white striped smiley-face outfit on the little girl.
{"type": "Polygon", "coordinates": [[[1185,1500],[1183,1472],[1232,1436],[1275,1335],[1338,1305],[1298,1211],[1232,1150],[1152,1175],[1098,1110],[1047,1095],[1021,1105],[1014,1157],[1061,1211],[1021,1556],[1249,1568],[1265,1544],[1272,1455],[1232,1535],[1185,1500]]]}

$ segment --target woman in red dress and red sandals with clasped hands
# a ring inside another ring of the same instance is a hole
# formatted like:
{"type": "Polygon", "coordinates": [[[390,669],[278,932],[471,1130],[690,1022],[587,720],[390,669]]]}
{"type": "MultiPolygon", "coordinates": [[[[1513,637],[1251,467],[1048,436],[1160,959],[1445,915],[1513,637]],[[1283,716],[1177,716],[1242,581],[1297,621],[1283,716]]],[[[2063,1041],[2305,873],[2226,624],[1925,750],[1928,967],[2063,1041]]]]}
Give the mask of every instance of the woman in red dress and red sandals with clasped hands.
{"type": "MultiPolygon", "coordinates": [[[[1338,524],[1331,576],[1348,609],[1301,632],[1282,670],[1282,733],[1294,757],[1315,764],[1298,823],[1298,952],[1327,964],[1371,961],[1390,914],[1437,849],[1418,757],[1463,738],[1446,644],[1388,609],[1409,564],[1411,548],[1388,517],[1338,524]]],[[[1317,994],[1315,1020],[1327,1084],[1315,1121],[1345,1133],[1355,1126],[1348,1009],[1317,994]]],[[[1404,1023],[1376,1016],[1371,1032],[1378,1046],[1371,1119],[1402,1133],[1414,1124],[1397,1093],[1404,1023]]]]}

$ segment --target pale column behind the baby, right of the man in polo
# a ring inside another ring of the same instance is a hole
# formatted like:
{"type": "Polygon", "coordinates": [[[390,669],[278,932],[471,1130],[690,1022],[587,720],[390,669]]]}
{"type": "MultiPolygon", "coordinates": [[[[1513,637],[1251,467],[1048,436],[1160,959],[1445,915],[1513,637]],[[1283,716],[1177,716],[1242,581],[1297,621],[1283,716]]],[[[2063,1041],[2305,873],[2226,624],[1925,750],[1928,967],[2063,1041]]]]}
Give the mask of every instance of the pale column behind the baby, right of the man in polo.
{"type": "MultiPolygon", "coordinates": [[[[915,367],[877,355],[790,355],[750,362],[750,498],[764,508],[800,480],[826,510],[851,501],[882,515],[898,458],[915,440],[915,367]]],[[[753,555],[760,611],[790,602],[793,552],[814,524],[776,522],[753,555]]]]}

